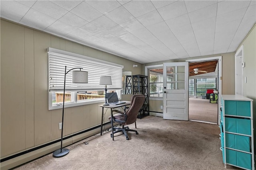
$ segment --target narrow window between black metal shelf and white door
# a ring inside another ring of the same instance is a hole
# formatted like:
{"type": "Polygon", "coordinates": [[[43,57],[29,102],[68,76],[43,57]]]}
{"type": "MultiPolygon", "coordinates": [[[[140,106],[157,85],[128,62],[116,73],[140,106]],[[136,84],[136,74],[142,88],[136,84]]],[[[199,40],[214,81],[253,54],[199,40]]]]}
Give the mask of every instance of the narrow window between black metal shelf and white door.
{"type": "Polygon", "coordinates": [[[149,72],[150,97],[163,97],[163,69],[149,69],[149,72]]]}

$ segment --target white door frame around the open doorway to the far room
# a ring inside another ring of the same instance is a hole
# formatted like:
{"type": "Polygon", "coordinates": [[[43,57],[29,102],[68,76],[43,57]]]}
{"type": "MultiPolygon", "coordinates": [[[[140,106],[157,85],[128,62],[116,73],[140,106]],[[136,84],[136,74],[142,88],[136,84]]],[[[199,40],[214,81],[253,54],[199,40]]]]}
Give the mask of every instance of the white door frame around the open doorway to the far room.
{"type": "MultiPolygon", "coordinates": [[[[217,57],[207,57],[201,59],[190,59],[186,60],[187,62],[201,62],[201,61],[211,61],[218,60],[218,95],[222,94],[222,56],[217,57]]],[[[218,114],[220,113],[220,107],[218,107],[218,114]]],[[[189,109],[188,109],[189,115],[189,109]]],[[[220,116],[218,116],[218,124],[220,125],[220,116]]]]}

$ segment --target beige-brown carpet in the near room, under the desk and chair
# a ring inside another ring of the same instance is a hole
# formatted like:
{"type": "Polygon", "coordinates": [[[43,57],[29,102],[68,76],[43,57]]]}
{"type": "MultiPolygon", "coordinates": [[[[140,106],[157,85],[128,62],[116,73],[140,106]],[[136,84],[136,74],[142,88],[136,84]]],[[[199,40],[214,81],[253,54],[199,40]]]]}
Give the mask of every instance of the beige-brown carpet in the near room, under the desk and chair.
{"type": "MultiPolygon", "coordinates": [[[[233,170],[224,168],[218,125],[194,121],[164,120],[146,116],[137,119],[138,135],[122,133],[112,141],[110,131],[66,148],[70,153],[54,158],[52,153],[16,167],[16,170],[233,170]],[[88,142],[87,145],[84,142],[88,142]]],[[[134,124],[129,126],[134,129],[134,124]]]]}

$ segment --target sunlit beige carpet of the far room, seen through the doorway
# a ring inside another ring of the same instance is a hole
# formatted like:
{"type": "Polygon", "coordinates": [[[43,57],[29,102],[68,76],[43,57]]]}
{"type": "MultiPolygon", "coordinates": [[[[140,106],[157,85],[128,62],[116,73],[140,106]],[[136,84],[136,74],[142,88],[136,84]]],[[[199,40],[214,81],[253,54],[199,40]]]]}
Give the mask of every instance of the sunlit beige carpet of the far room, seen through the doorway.
{"type": "Polygon", "coordinates": [[[189,98],[190,120],[218,123],[218,104],[210,103],[207,99],[189,98]]]}

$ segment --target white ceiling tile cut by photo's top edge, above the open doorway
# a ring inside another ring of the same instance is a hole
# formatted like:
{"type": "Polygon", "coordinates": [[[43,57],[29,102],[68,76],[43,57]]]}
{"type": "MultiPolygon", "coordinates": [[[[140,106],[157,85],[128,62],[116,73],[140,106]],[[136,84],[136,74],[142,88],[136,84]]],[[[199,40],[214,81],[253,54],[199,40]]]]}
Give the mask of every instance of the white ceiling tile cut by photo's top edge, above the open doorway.
{"type": "Polygon", "coordinates": [[[218,0],[185,0],[184,2],[189,13],[216,4],[218,0]]]}

